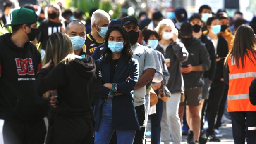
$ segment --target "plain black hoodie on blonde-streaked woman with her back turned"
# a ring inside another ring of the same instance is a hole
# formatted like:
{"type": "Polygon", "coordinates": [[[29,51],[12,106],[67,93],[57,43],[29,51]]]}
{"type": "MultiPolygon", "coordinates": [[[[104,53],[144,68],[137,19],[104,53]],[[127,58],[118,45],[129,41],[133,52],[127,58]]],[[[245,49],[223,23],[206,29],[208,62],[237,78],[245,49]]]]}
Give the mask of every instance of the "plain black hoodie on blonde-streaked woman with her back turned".
{"type": "Polygon", "coordinates": [[[53,112],[65,116],[87,116],[93,111],[91,101],[96,86],[96,66],[92,57],[59,63],[50,72],[41,69],[36,75],[36,91],[43,94],[57,90],[60,104],[53,112]]]}

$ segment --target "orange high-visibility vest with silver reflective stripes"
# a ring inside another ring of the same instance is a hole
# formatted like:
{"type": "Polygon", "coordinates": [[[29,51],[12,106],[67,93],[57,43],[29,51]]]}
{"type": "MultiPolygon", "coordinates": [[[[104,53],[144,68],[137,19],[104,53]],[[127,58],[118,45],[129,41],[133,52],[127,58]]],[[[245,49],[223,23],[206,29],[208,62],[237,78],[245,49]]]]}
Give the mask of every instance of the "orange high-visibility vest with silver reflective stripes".
{"type": "Polygon", "coordinates": [[[244,57],[244,68],[242,68],[241,59],[239,60],[239,68],[235,64],[233,57],[229,56],[227,64],[229,67],[229,90],[227,94],[227,111],[256,111],[249,100],[249,87],[251,81],[256,77],[256,60],[251,52],[249,57],[244,57]],[[255,64],[255,65],[254,65],[255,64]]]}

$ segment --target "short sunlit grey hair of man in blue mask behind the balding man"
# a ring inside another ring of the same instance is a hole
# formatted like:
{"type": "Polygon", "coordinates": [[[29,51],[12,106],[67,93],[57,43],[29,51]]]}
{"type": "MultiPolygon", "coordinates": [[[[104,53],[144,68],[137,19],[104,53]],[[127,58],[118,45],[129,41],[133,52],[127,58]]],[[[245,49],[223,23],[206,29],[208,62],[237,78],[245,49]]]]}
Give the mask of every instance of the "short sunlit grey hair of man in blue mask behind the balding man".
{"type": "Polygon", "coordinates": [[[98,9],[95,12],[93,12],[93,15],[91,16],[91,27],[93,27],[93,24],[98,25],[100,23],[101,18],[107,19],[110,22],[109,14],[104,10],[98,9]]]}

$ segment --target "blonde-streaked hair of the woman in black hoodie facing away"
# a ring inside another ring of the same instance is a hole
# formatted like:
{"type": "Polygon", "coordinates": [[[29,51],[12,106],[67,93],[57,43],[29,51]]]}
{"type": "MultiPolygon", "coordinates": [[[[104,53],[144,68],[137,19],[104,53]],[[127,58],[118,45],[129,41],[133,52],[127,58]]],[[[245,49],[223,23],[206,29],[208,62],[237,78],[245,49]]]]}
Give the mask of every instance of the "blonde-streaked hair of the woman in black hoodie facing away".
{"type": "Polygon", "coordinates": [[[45,53],[46,63],[52,60],[54,66],[62,62],[68,64],[75,59],[74,47],[69,36],[61,32],[50,35],[45,53]]]}

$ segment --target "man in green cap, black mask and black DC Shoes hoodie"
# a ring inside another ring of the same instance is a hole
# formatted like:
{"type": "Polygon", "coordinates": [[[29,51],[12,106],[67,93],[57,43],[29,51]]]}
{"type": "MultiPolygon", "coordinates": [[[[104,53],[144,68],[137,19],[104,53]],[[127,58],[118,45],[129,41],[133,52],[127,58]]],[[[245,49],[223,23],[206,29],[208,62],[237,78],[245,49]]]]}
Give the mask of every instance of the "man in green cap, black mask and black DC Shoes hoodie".
{"type": "Polygon", "coordinates": [[[45,104],[35,92],[41,55],[34,40],[36,13],[27,8],[12,12],[12,33],[0,37],[0,143],[43,144],[45,104]]]}

